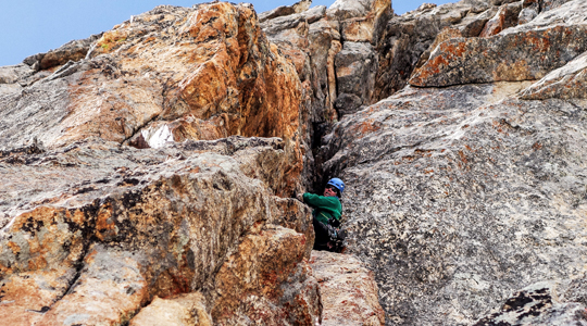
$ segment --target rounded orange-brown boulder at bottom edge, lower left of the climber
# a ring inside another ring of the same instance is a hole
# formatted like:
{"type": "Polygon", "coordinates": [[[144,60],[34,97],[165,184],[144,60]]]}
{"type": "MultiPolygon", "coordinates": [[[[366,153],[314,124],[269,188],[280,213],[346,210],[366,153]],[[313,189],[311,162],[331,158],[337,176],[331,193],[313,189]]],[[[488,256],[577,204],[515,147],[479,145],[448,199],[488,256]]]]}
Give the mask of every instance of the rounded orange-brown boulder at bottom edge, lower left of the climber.
{"type": "Polygon", "coordinates": [[[247,236],[216,275],[215,325],[312,325],[321,306],[303,260],[311,244],[278,226],[247,236]]]}

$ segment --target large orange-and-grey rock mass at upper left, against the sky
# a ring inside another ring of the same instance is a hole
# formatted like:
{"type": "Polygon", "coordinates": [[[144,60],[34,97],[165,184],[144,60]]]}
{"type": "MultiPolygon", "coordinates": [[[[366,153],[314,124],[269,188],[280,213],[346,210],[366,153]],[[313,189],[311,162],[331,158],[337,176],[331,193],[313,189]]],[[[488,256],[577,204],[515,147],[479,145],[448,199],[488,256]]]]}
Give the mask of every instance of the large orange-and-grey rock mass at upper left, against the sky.
{"type": "Polygon", "coordinates": [[[249,7],[159,7],[104,33],[87,57],[4,99],[1,147],[34,137],[49,147],[100,137],[138,148],[282,137],[300,164],[277,188],[299,187],[302,143],[289,140],[301,138],[301,85],[249,7]]]}

